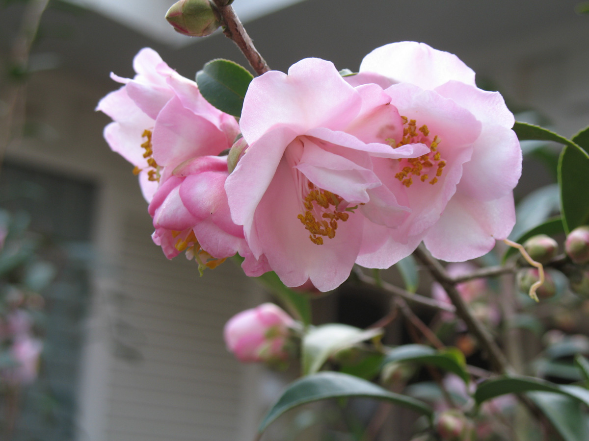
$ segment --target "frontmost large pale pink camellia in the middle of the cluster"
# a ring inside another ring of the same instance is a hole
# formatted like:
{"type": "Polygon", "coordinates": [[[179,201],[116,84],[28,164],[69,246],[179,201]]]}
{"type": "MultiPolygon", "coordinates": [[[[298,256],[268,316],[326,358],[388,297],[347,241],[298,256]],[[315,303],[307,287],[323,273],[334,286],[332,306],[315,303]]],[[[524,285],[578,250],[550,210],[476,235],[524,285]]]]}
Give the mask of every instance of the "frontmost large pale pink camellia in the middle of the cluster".
{"type": "Polygon", "coordinates": [[[316,58],[297,62],[288,75],[270,71],[250,83],[240,120],[249,148],[226,190],[254,256],[265,255],[287,286],[310,281],[322,291],[336,288],[366,230],[396,228],[408,218],[405,195],[399,199],[382,185],[372,158],[396,164],[430,149],[393,148],[403,121],[390,102],[379,85],[355,88],[316,58]]]}

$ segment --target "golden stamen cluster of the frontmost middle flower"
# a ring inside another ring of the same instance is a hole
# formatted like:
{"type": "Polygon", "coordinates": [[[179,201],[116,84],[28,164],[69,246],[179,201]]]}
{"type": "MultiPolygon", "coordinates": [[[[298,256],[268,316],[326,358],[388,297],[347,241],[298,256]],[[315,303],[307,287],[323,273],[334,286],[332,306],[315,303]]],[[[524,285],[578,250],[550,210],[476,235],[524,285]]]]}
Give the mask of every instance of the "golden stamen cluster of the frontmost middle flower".
{"type": "Polygon", "coordinates": [[[305,225],[305,229],[311,233],[309,239],[316,245],[323,245],[323,237],[329,239],[335,238],[337,221],[346,222],[349,213],[336,211],[337,206],[343,201],[340,196],[326,190],[317,189],[313,183],[307,184],[309,193],[303,199],[305,205],[305,215],[300,214],[297,218],[305,225]],[[333,208],[332,208],[333,206],[333,208]],[[316,215],[321,215],[320,219],[316,215]]]}

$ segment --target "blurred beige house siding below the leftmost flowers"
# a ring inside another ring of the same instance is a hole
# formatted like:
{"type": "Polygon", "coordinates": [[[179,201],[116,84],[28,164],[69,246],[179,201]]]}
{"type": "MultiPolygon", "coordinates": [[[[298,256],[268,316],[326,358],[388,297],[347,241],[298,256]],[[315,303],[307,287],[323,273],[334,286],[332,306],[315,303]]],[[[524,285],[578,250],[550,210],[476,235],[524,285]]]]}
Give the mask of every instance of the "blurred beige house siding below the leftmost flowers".
{"type": "Polygon", "coordinates": [[[222,333],[252,285],[233,262],[200,277],[184,256],[168,261],[151,230],[147,215],[129,218],[121,238],[107,439],[237,439],[243,369],[222,333]]]}

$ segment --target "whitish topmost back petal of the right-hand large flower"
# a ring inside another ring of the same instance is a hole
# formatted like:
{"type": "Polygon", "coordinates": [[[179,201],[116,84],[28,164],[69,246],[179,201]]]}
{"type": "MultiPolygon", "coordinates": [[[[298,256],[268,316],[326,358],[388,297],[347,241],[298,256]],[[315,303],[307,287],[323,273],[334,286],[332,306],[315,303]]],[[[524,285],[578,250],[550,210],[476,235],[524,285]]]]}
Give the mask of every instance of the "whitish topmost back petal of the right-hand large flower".
{"type": "Polygon", "coordinates": [[[456,55],[432,49],[425,43],[402,41],[375,49],[360,64],[360,73],[373,72],[393,82],[435,89],[456,80],[475,85],[475,73],[456,55]]]}

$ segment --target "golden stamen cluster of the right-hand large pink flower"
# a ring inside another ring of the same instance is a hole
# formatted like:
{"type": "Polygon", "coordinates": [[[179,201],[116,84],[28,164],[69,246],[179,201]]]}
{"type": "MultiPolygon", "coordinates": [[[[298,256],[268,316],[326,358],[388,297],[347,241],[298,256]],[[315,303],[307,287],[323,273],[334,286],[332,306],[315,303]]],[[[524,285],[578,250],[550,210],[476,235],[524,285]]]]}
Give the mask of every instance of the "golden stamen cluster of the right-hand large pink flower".
{"type": "Polygon", "coordinates": [[[395,142],[395,139],[389,138],[386,139],[386,142],[393,148],[420,142],[429,147],[429,153],[419,156],[419,158],[399,159],[401,171],[396,173],[395,178],[409,188],[413,184],[413,176],[419,176],[421,182],[428,181],[430,176],[433,176],[428,182],[434,185],[442,176],[442,171],[446,166],[446,161],[442,161],[442,156],[438,152],[441,140],[438,135],[431,138],[428,126],[425,124],[417,128],[415,119],[410,120],[406,116],[401,116],[401,118],[403,119],[403,139],[400,142],[395,142]]]}

